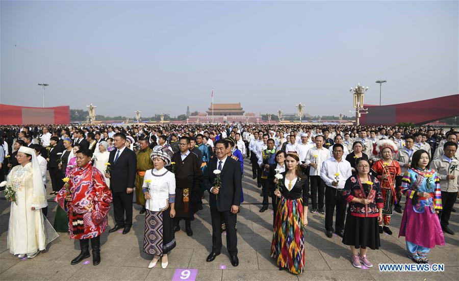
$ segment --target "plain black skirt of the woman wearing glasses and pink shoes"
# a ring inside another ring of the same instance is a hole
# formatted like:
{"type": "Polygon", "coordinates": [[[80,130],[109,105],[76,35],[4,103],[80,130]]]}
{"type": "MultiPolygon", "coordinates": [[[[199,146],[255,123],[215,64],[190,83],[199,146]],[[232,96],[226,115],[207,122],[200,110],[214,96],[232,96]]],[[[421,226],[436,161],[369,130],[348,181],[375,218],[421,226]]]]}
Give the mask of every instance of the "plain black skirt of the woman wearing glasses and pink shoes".
{"type": "Polygon", "coordinates": [[[343,244],[355,248],[379,249],[378,217],[363,218],[352,216],[347,209],[346,225],[344,226],[343,244]]]}

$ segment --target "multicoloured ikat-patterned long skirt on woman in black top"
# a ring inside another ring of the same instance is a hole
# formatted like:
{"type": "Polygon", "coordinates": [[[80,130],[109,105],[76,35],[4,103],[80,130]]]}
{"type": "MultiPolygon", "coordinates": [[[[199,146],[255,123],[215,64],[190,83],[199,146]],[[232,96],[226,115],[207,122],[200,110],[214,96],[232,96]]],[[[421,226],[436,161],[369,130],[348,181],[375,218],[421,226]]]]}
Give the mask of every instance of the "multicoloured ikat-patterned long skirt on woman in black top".
{"type": "Polygon", "coordinates": [[[274,222],[271,257],[294,274],[304,269],[303,200],[281,197],[274,222]]]}

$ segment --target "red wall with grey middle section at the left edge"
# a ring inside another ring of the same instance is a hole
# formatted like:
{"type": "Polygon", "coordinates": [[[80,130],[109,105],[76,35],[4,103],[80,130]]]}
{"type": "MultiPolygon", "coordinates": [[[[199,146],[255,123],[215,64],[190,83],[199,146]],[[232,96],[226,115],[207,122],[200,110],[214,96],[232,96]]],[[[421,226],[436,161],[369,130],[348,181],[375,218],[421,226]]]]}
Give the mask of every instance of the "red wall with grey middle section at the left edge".
{"type": "Polygon", "coordinates": [[[21,107],[0,104],[0,124],[68,124],[70,107],[21,107]]]}

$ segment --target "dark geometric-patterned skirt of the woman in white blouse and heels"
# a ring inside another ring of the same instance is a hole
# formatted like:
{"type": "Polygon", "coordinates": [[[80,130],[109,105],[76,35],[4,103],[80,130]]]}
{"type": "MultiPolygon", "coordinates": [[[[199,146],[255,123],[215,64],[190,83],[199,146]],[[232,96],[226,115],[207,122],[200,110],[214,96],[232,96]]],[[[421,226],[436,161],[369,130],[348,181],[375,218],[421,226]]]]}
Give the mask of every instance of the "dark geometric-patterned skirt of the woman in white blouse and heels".
{"type": "Polygon", "coordinates": [[[175,248],[175,235],[170,207],[163,212],[146,210],[143,251],[156,256],[163,256],[175,248]]]}

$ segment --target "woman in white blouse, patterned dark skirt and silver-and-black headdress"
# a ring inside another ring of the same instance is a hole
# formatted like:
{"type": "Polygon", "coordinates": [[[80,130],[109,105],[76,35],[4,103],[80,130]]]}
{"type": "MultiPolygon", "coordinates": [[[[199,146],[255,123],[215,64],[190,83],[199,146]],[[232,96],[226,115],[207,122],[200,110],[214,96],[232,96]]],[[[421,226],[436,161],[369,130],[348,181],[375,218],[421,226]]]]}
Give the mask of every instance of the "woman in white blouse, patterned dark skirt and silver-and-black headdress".
{"type": "Polygon", "coordinates": [[[161,267],[169,261],[167,253],[175,247],[172,218],[175,217],[175,176],[164,166],[170,165],[172,151],[161,147],[151,152],[154,168],[145,171],[142,191],[145,195],[145,234],[143,251],[152,254],[152,268],[161,259],[161,267]]]}

